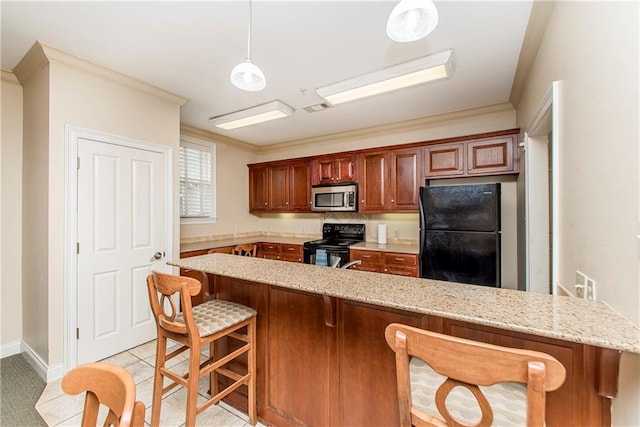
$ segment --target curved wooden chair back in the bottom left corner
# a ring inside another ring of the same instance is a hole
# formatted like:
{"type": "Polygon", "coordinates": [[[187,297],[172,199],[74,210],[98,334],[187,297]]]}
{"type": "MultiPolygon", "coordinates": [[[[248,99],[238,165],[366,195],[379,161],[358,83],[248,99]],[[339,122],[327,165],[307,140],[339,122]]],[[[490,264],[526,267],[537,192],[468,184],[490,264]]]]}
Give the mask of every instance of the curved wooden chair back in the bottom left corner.
{"type": "Polygon", "coordinates": [[[100,405],[109,408],[103,426],[144,427],[144,403],[136,402],[131,374],[110,363],[80,365],[62,378],[62,390],[71,395],[87,392],[82,427],[95,427],[100,405]]]}

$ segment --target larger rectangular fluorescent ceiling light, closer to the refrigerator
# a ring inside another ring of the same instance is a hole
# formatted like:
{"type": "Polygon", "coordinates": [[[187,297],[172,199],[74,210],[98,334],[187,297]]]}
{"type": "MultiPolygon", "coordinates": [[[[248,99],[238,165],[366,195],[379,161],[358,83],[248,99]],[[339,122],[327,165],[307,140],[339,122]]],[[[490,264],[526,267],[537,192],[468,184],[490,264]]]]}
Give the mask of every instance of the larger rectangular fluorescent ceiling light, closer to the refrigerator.
{"type": "Polygon", "coordinates": [[[394,65],[370,74],[316,89],[331,105],[378,95],[409,86],[451,77],[453,50],[394,65]]]}

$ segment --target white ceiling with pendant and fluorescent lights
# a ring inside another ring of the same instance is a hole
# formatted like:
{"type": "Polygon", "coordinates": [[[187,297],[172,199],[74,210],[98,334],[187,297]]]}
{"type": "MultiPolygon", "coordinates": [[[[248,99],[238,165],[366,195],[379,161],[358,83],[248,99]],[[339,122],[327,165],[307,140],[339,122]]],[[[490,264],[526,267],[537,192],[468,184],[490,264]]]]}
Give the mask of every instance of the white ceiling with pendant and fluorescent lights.
{"type": "Polygon", "coordinates": [[[188,98],[182,123],[257,146],[508,102],[531,12],[527,1],[437,1],[427,38],[396,43],[387,17],[396,1],[254,0],[251,56],[261,92],[231,85],[246,57],[248,1],[1,2],[2,68],[36,40],[188,98]],[[308,113],[315,88],[445,49],[445,81],[308,113]],[[292,117],[222,131],[209,118],[279,99],[292,117]]]}

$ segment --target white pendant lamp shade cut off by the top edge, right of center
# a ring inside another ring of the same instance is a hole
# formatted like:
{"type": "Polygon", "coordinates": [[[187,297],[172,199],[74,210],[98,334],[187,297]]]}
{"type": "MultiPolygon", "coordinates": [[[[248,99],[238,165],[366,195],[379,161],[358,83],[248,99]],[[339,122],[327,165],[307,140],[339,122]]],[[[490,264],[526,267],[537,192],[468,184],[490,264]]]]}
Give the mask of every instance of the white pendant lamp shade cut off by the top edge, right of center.
{"type": "Polygon", "coordinates": [[[431,0],[402,0],[387,20],[387,35],[393,41],[413,42],[428,36],[438,25],[438,9],[431,0]]]}

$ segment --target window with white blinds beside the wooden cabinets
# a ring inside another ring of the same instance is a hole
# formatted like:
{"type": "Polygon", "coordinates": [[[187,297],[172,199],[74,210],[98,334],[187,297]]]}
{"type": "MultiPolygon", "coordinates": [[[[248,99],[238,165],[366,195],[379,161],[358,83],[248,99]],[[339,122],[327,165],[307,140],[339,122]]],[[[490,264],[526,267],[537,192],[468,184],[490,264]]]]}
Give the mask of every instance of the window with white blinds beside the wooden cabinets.
{"type": "Polygon", "coordinates": [[[180,142],[180,217],[215,217],[215,145],[180,142]]]}

